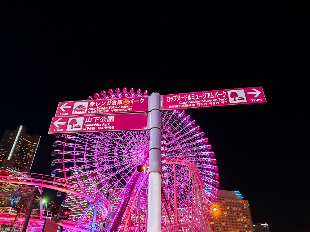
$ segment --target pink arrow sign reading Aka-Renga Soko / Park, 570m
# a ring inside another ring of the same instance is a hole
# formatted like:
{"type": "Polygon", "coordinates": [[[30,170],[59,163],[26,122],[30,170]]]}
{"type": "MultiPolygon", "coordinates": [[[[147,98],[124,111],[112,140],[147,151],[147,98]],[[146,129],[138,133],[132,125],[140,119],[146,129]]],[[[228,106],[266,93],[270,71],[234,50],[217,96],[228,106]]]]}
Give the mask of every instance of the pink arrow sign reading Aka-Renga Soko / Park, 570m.
{"type": "Polygon", "coordinates": [[[59,102],[55,117],[147,112],[148,97],[59,102]]]}

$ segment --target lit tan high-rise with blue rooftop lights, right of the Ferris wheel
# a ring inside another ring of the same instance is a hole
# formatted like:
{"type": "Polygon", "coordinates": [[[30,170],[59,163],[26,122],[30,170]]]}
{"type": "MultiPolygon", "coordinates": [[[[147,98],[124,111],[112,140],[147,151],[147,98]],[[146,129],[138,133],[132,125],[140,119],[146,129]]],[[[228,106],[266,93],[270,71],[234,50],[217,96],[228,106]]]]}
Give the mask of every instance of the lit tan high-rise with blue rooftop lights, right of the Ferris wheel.
{"type": "Polygon", "coordinates": [[[214,204],[217,211],[211,218],[213,232],[254,231],[249,201],[239,191],[219,190],[214,204]]]}

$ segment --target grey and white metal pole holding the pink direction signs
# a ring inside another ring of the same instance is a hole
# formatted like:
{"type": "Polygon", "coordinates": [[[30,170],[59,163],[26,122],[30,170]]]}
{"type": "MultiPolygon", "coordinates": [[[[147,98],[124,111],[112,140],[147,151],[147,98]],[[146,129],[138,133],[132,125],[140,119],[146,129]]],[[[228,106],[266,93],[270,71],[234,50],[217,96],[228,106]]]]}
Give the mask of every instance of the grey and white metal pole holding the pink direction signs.
{"type": "Polygon", "coordinates": [[[161,95],[152,93],[149,97],[148,125],[150,128],[150,153],[148,174],[147,232],[161,229],[161,95]]]}

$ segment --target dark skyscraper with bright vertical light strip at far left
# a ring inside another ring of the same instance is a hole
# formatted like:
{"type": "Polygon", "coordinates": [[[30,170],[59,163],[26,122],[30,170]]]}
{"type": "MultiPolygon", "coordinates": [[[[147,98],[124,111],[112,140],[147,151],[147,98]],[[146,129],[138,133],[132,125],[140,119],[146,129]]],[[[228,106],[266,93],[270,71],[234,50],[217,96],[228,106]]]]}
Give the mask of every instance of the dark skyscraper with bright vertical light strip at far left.
{"type": "Polygon", "coordinates": [[[30,172],[41,136],[29,135],[26,127],[6,130],[0,142],[0,168],[30,172]]]}

